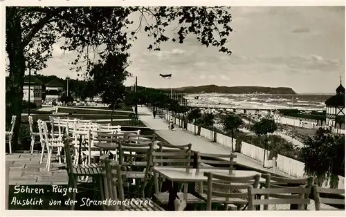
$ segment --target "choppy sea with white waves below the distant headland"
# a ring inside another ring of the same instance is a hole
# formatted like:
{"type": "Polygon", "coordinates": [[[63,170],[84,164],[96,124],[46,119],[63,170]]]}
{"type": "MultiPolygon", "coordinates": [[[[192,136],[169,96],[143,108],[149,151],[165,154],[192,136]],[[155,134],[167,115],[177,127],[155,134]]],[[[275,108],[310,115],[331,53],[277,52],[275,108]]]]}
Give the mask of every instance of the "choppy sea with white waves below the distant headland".
{"type": "Polygon", "coordinates": [[[199,93],[185,95],[190,106],[239,109],[325,110],[325,100],[333,94],[225,94],[199,93]]]}

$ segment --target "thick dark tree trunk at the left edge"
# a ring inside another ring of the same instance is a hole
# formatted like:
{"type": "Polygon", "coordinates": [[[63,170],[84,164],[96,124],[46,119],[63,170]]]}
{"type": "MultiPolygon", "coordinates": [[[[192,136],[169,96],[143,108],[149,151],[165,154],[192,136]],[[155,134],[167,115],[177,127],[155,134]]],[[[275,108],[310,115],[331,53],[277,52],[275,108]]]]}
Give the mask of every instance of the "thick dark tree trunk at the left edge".
{"type": "Polygon", "coordinates": [[[15,128],[12,135],[12,151],[18,148],[21,113],[23,111],[23,86],[25,75],[24,45],[21,39],[21,17],[15,7],[6,8],[6,53],[10,62],[10,75],[6,87],[8,111],[6,115],[16,115],[15,128]]]}

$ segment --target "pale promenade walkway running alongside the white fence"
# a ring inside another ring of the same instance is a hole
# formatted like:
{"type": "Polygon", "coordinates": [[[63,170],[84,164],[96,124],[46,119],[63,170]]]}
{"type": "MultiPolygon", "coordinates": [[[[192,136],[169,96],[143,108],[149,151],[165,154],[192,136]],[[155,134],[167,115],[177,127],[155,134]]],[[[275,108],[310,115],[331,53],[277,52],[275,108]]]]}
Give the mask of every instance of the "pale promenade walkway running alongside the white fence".
{"type": "MultiPolygon", "coordinates": [[[[202,153],[229,153],[230,149],[227,147],[222,146],[221,144],[217,144],[215,142],[210,142],[206,140],[205,138],[201,138],[200,136],[193,135],[192,133],[179,129],[179,127],[175,127],[174,131],[169,131],[167,122],[165,120],[156,117],[153,118],[151,111],[147,109],[147,107],[138,107],[138,113],[141,113],[143,115],[138,115],[138,118],[147,125],[150,129],[155,130],[155,133],[167,142],[170,142],[170,144],[179,145],[179,144],[192,144],[192,150],[193,151],[199,151],[202,153]]],[[[235,161],[237,164],[244,165],[246,167],[252,167],[255,169],[260,169],[262,171],[268,171],[273,173],[272,169],[266,169],[263,168],[262,163],[258,162],[256,160],[253,160],[252,158],[249,158],[246,155],[243,155],[242,153],[235,153],[237,155],[237,158],[235,161]]],[[[282,176],[290,177],[289,175],[285,173],[276,172],[282,176]]]]}

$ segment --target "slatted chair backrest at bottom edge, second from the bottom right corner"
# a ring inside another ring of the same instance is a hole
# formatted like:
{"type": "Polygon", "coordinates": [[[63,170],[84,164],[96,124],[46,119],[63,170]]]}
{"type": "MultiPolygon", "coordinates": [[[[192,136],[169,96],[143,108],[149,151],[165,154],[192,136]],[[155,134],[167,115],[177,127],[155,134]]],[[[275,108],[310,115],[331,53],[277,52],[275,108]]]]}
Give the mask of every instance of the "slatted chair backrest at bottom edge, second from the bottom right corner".
{"type": "Polygon", "coordinates": [[[264,189],[257,189],[253,186],[248,186],[248,209],[254,210],[255,205],[265,205],[264,207],[268,207],[268,205],[296,204],[298,205],[298,210],[303,210],[304,205],[308,205],[310,203],[310,199],[304,198],[304,194],[309,194],[310,190],[311,189],[306,189],[303,185],[300,185],[299,187],[277,187],[264,189]],[[256,198],[255,195],[271,195],[271,197],[275,199],[261,199],[256,198]],[[288,198],[286,196],[290,197],[288,198]]]}

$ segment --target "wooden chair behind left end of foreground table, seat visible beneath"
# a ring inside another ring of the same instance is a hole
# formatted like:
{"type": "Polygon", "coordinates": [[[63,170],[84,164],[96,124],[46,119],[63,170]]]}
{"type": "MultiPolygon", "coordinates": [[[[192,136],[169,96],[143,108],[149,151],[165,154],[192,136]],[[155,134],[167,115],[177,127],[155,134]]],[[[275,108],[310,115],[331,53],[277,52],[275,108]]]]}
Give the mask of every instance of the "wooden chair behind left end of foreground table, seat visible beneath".
{"type": "MultiPolygon", "coordinates": [[[[166,166],[169,167],[179,167],[185,168],[186,172],[189,172],[192,169],[193,159],[191,158],[192,153],[188,150],[179,150],[179,151],[153,151],[152,153],[152,165],[153,166],[166,166]]],[[[169,200],[169,192],[161,192],[162,183],[165,181],[165,178],[159,177],[158,173],[153,173],[154,175],[154,188],[155,188],[155,198],[161,205],[167,205],[169,200]]],[[[178,192],[179,198],[186,199],[188,204],[201,204],[204,203],[204,200],[201,200],[188,192],[188,184],[184,183],[184,192],[178,192]]]]}

